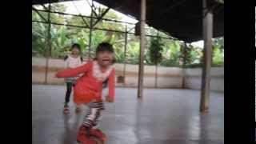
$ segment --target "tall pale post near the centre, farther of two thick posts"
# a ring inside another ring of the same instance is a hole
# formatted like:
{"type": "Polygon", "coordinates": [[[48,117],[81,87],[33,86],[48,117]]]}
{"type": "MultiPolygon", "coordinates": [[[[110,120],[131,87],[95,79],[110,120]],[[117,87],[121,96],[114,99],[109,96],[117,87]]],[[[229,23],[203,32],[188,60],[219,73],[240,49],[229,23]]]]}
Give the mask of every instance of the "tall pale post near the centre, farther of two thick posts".
{"type": "Polygon", "coordinates": [[[140,54],[139,54],[139,69],[138,69],[138,98],[143,95],[143,73],[144,73],[144,49],[146,47],[145,35],[146,21],[146,0],[141,0],[141,20],[140,20],[140,54]]]}

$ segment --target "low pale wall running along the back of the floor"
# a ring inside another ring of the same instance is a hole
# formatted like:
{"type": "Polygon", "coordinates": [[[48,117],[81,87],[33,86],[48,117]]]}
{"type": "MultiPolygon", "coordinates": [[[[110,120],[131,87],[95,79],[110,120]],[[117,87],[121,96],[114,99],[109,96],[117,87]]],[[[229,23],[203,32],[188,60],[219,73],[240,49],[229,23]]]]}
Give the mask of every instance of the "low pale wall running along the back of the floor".
{"type": "MultiPolygon", "coordinates": [[[[86,62],[84,62],[86,63],[86,62]]],[[[63,78],[54,78],[58,70],[62,70],[64,62],[62,59],[49,59],[47,83],[63,84],[63,78]]],[[[138,86],[138,65],[122,63],[114,64],[116,70],[116,86],[136,87],[138,86]],[[118,77],[124,76],[124,82],[119,82],[118,77]]],[[[153,88],[157,83],[158,88],[184,88],[198,90],[201,87],[201,68],[182,69],[177,67],[158,66],[158,78],[155,78],[155,66],[144,66],[144,86],[153,88]]],[[[224,91],[224,69],[222,67],[211,68],[210,90],[224,91]]],[[[32,58],[32,83],[45,83],[46,58],[32,58]]]]}

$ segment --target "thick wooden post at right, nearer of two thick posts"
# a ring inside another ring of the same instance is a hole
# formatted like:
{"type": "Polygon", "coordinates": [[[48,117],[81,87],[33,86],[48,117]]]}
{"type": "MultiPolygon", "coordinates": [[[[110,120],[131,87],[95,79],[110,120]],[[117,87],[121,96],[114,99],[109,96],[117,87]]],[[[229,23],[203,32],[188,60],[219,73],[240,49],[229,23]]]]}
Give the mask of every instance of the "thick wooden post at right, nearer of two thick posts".
{"type": "Polygon", "coordinates": [[[204,54],[202,67],[202,86],[200,111],[207,112],[209,109],[209,92],[210,92],[210,67],[212,58],[212,37],[213,37],[213,14],[207,9],[206,0],[203,1],[203,39],[204,39],[204,54]]]}

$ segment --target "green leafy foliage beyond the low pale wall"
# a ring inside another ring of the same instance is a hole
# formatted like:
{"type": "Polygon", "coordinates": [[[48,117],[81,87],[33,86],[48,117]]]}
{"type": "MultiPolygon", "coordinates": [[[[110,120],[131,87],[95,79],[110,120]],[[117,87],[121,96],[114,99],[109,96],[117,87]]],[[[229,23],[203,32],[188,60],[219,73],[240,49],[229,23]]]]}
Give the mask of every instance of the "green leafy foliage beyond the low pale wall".
{"type": "MultiPolygon", "coordinates": [[[[64,12],[66,7],[62,4],[54,3],[52,8],[56,11],[64,12]]],[[[40,12],[47,19],[47,13],[40,12]]],[[[110,10],[104,18],[120,20],[114,11],[110,10]]],[[[34,11],[32,19],[43,21],[34,11]]],[[[78,26],[85,26],[82,18],[78,17],[60,17],[58,14],[50,14],[52,22],[66,22],[78,26]]],[[[85,18],[86,22],[90,23],[90,18],[85,18]]],[[[125,30],[125,25],[118,22],[103,22],[99,21],[96,25],[98,28],[110,30],[125,30]]],[[[46,39],[48,37],[48,24],[36,23],[32,24],[32,55],[35,57],[45,57],[46,49],[48,48],[46,39]]],[[[82,56],[88,58],[89,47],[89,29],[82,29],[71,26],[51,25],[51,57],[63,58],[70,53],[70,46],[73,43],[79,43],[82,48],[82,56]]],[[[159,34],[164,37],[168,35],[158,32],[150,27],[146,29],[146,34],[159,34]]],[[[170,36],[169,36],[170,37],[170,36]]],[[[202,66],[202,48],[188,45],[184,48],[184,43],[176,40],[162,38],[161,42],[157,38],[146,37],[145,64],[154,65],[158,62],[160,66],[178,66],[178,67],[201,67],[202,66]],[[160,46],[160,47],[158,47],[160,46]],[[184,57],[186,54],[186,57],[184,57]],[[156,60],[156,59],[161,60],[156,60]],[[186,62],[185,65],[183,63],[186,62]]],[[[171,38],[171,37],[170,37],[171,38]]],[[[103,30],[93,30],[91,37],[91,56],[94,56],[96,46],[100,42],[110,42],[114,46],[115,57],[117,62],[138,64],[139,57],[139,37],[134,34],[127,34],[127,50],[125,48],[125,34],[115,33],[103,30]]],[[[224,63],[224,38],[213,39],[213,59],[212,66],[223,66],[224,63]]]]}

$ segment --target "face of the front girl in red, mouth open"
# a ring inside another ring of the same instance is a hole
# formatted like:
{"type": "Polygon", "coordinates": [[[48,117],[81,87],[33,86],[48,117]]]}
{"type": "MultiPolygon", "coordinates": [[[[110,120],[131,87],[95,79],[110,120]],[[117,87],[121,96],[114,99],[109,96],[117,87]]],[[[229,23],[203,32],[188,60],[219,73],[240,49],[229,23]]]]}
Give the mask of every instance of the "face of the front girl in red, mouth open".
{"type": "Polygon", "coordinates": [[[111,53],[110,51],[99,51],[97,59],[100,66],[110,66],[114,60],[114,53],[111,53]]]}

